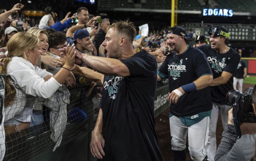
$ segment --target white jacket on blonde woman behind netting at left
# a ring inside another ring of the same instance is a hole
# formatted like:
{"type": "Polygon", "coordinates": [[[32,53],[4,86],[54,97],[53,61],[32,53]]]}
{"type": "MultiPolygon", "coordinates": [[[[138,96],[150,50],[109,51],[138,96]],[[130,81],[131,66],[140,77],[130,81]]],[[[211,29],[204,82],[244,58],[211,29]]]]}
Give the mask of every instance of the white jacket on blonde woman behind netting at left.
{"type": "Polygon", "coordinates": [[[16,90],[16,101],[5,107],[4,122],[16,119],[21,122],[31,121],[31,110],[34,99],[27,101],[26,94],[34,97],[50,98],[61,86],[53,77],[45,81],[50,72],[33,66],[28,60],[14,56],[7,66],[7,74],[11,76],[10,82],[16,90]],[[29,107],[23,110],[24,107],[29,107]]]}

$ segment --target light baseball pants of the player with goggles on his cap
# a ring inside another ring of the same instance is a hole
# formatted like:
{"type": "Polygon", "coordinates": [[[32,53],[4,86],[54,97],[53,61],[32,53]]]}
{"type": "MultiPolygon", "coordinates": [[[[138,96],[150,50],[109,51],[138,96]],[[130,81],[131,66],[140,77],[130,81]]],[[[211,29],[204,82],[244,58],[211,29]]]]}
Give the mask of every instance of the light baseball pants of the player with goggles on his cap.
{"type": "Polygon", "coordinates": [[[214,161],[215,153],[217,150],[216,127],[217,127],[219,111],[221,113],[222,126],[224,129],[228,121],[228,111],[230,110],[230,108],[231,106],[228,106],[228,105],[219,105],[218,103],[214,103],[214,102],[212,103],[211,119],[209,124],[209,137],[206,145],[206,152],[207,152],[208,159],[210,161],[214,161]]]}

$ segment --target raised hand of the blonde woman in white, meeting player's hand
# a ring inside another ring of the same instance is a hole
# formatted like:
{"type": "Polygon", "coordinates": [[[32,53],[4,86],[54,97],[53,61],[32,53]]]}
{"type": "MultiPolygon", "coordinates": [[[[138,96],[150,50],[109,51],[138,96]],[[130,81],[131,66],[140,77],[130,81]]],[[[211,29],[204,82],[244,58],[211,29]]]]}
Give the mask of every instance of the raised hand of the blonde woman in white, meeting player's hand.
{"type": "Polygon", "coordinates": [[[76,56],[75,44],[71,45],[71,47],[69,47],[69,44],[68,44],[66,47],[65,53],[66,53],[66,55],[65,55],[64,66],[68,66],[68,69],[74,67],[75,56],[76,56]]]}

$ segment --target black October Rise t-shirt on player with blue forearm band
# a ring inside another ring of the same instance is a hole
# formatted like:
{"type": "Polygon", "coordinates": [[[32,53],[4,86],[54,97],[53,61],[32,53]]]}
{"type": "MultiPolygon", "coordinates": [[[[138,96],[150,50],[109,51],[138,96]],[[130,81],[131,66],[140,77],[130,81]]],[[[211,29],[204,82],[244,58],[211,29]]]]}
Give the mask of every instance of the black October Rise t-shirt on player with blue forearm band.
{"type": "MultiPolygon", "coordinates": [[[[188,47],[180,55],[176,55],[176,52],[168,55],[158,69],[159,76],[168,77],[170,92],[208,74],[212,75],[212,71],[206,55],[193,47],[188,47]]],[[[210,87],[206,87],[202,90],[186,92],[176,104],[171,104],[170,113],[178,117],[186,117],[211,109],[210,87]]]]}

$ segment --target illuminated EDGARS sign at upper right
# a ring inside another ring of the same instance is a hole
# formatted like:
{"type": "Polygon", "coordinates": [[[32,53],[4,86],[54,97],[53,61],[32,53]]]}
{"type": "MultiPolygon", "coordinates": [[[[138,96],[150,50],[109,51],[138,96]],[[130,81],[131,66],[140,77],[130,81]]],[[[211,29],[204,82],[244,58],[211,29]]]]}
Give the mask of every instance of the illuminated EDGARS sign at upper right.
{"type": "Polygon", "coordinates": [[[232,9],[203,9],[203,16],[226,16],[232,17],[233,10],[232,9]]]}

